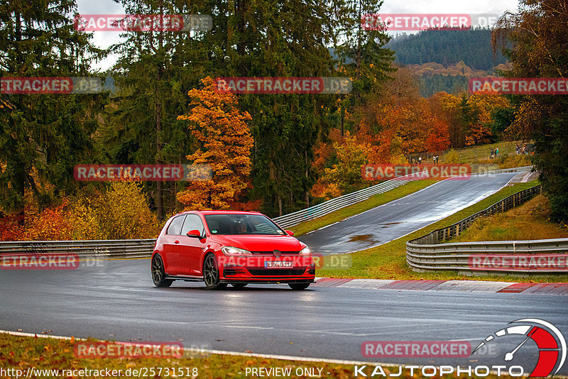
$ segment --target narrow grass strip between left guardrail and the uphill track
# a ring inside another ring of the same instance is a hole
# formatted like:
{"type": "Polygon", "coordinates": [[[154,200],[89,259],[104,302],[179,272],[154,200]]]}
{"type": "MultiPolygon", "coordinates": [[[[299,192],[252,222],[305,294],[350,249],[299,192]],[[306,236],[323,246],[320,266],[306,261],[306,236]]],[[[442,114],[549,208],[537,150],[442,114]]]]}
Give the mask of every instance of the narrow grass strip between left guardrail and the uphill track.
{"type": "Polygon", "coordinates": [[[342,221],[347,217],[360,214],[361,212],[368,211],[369,209],[373,209],[375,207],[378,207],[379,205],[392,202],[393,200],[400,199],[401,197],[405,197],[408,194],[420,191],[420,189],[424,189],[430,185],[433,185],[435,182],[438,182],[438,180],[415,180],[413,182],[408,182],[405,185],[393,188],[390,191],[384,192],[382,194],[376,194],[373,197],[353,204],[349,207],[338,209],[335,212],[326,214],[325,216],[318,217],[317,219],[313,219],[311,221],[304,221],[300,224],[297,224],[296,226],[291,227],[290,230],[294,232],[295,236],[301,236],[302,234],[309,233],[310,231],[315,231],[324,226],[331,225],[334,222],[342,221]]]}

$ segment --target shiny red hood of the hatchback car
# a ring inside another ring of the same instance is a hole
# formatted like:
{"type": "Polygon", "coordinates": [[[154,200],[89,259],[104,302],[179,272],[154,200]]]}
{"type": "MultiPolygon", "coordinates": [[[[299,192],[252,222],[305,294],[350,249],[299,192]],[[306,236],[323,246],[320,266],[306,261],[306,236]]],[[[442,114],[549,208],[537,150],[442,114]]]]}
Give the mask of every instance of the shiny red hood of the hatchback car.
{"type": "Polygon", "coordinates": [[[246,234],[243,236],[212,236],[223,246],[233,246],[244,248],[248,251],[300,251],[305,248],[305,243],[301,243],[292,236],[258,236],[246,234]]]}

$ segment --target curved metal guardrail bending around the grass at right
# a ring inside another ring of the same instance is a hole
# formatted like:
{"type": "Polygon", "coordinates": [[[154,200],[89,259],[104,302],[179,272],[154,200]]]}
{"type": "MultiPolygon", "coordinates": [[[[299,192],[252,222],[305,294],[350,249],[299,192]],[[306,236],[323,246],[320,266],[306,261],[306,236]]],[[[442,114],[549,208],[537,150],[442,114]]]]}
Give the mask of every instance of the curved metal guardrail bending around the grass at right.
{"type": "MultiPolygon", "coordinates": [[[[535,241],[481,241],[481,242],[458,242],[458,243],[442,243],[449,238],[459,236],[471,224],[483,216],[491,216],[505,212],[508,209],[523,204],[532,199],[535,195],[540,194],[542,187],[525,189],[506,199],[496,202],[487,209],[478,212],[472,216],[463,219],[456,224],[445,228],[432,231],[430,234],[420,238],[413,239],[406,243],[406,261],[408,265],[418,272],[435,272],[440,270],[457,270],[459,274],[466,275],[486,275],[486,274],[549,274],[549,273],[567,273],[564,268],[547,269],[545,272],[535,270],[519,270],[511,268],[491,268],[491,270],[472,270],[470,266],[470,257],[472,255],[481,255],[491,253],[495,254],[511,254],[517,255],[540,255],[540,254],[557,254],[568,252],[568,238],[557,238],[548,240],[535,241]]],[[[568,256],[567,256],[568,258],[568,256]]]]}

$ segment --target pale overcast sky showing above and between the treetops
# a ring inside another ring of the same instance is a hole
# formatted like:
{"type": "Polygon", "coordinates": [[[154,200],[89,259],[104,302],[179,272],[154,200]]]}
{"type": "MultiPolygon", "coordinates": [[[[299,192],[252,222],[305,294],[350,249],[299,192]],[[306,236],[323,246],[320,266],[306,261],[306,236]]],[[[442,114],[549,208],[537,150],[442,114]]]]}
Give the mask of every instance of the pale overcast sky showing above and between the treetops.
{"type": "MultiPolygon", "coordinates": [[[[77,0],[80,14],[124,14],[120,4],[112,0],[77,0]]],[[[381,13],[484,13],[501,15],[515,11],[518,0],[385,0],[381,13]]],[[[400,32],[399,32],[400,33],[400,32]]],[[[94,32],[92,42],[99,48],[108,48],[119,40],[119,32],[94,32]]],[[[114,57],[97,63],[94,68],[106,70],[114,64],[114,57]]]]}

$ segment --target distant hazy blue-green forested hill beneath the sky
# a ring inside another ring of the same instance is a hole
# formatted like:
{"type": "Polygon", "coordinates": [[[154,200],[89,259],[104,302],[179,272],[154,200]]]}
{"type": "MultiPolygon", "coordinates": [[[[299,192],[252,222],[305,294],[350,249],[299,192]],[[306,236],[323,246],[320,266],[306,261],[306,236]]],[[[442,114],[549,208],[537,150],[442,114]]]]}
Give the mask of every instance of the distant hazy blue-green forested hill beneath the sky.
{"type": "Polygon", "coordinates": [[[397,35],[386,47],[396,52],[395,62],[400,65],[437,62],[447,67],[461,60],[474,70],[491,70],[507,62],[501,51],[493,55],[491,30],[486,28],[397,35]]]}

